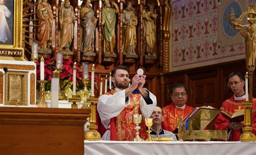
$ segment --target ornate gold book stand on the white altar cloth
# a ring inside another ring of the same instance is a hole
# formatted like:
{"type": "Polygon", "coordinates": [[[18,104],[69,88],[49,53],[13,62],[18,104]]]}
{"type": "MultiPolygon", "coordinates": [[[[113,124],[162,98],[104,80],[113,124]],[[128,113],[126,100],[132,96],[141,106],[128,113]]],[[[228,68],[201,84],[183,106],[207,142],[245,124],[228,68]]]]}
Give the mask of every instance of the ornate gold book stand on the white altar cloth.
{"type": "Polygon", "coordinates": [[[212,107],[195,108],[183,121],[176,124],[179,127],[179,140],[227,140],[227,131],[206,130],[208,124],[213,123],[213,119],[218,116],[220,109],[212,107]]]}

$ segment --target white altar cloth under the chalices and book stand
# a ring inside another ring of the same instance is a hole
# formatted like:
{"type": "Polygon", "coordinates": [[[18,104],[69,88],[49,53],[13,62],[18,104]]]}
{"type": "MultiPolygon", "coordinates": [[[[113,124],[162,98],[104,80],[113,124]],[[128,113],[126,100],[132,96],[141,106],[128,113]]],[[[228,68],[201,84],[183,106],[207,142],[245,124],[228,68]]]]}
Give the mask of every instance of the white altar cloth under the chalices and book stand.
{"type": "Polygon", "coordinates": [[[84,140],[84,154],[256,154],[256,142],[118,142],[84,140]]]}

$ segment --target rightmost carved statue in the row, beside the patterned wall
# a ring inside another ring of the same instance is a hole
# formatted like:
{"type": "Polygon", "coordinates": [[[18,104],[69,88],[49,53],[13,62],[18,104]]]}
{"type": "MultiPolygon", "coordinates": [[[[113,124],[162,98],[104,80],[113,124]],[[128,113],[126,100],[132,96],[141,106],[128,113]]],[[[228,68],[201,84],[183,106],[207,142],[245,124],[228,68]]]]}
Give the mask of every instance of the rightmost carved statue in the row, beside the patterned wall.
{"type": "Polygon", "coordinates": [[[156,55],[156,25],[154,22],[157,14],[154,13],[154,6],[149,5],[147,10],[143,10],[143,28],[145,55],[156,55]]]}

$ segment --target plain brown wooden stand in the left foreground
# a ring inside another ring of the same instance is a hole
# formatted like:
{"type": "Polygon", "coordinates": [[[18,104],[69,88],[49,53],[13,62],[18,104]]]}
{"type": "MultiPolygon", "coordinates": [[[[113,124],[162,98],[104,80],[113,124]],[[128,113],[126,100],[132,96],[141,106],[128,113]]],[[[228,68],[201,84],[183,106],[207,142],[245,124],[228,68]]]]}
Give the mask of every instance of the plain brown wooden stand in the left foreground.
{"type": "Polygon", "coordinates": [[[0,154],[84,154],[91,109],[0,107],[0,154]]]}

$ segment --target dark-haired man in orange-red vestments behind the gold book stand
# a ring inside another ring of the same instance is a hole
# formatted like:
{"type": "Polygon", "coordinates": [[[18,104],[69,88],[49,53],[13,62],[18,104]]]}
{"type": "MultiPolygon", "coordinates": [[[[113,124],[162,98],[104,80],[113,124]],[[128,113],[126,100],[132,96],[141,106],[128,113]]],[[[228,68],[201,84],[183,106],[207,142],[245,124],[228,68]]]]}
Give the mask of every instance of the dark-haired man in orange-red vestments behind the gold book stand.
{"type": "Polygon", "coordinates": [[[194,108],[186,105],[187,102],[187,87],[184,83],[174,83],[171,86],[172,103],[163,108],[164,121],[163,129],[177,133],[177,125],[179,117],[183,120],[190,114],[194,108]],[[175,130],[175,131],[174,131],[175,130]]]}

